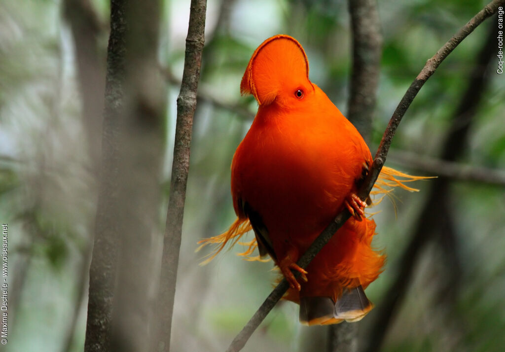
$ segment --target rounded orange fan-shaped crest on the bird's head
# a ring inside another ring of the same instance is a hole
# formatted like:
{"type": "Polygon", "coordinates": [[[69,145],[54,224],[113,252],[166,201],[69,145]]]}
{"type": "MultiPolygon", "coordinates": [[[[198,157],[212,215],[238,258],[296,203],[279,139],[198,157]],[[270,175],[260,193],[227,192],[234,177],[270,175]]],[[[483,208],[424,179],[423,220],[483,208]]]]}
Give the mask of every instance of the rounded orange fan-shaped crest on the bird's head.
{"type": "Polygon", "coordinates": [[[289,83],[309,81],[309,61],[294,38],[279,34],[265,40],[252,54],[240,83],[242,94],[252,94],[259,105],[268,105],[289,83]]]}

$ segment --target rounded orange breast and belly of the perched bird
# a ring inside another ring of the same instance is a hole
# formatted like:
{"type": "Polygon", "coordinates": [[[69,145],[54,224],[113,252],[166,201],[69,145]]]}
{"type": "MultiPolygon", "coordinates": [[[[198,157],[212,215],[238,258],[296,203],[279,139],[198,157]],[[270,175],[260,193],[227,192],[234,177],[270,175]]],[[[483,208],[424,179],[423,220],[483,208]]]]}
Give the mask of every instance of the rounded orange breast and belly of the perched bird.
{"type": "Polygon", "coordinates": [[[305,252],[371,160],[358,131],[317,89],[307,109],[260,107],[233,158],[235,202],[261,214],[276,253],[286,241],[305,252]]]}

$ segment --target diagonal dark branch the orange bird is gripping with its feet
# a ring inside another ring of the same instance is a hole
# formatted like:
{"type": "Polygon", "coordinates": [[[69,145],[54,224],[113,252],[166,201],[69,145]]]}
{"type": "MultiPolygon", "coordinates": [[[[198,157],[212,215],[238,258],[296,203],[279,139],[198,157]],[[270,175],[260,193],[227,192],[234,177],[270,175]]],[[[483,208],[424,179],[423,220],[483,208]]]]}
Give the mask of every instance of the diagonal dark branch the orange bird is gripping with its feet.
{"type": "MultiPolygon", "coordinates": [[[[407,109],[411,105],[412,101],[416,97],[417,93],[423,86],[423,84],[428,80],[428,78],[435,72],[436,68],[440,63],[452,52],[452,50],[458,46],[458,44],[465,39],[468,34],[470,34],[480,23],[482,23],[486,18],[494,14],[498,5],[502,4],[503,0],[495,0],[487,5],[483,10],[481,10],[477,15],[475,15],[465,26],[463,26],[456,35],[454,35],[444,46],[426,63],[425,67],[421,73],[417,76],[414,82],[411,84],[405,95],[403,95],[398,107],[393,113],[393,116],[389,120],[389,124],[384,132],[379,149],[375,156],[374,162],[370,171],[363,182],[363,185],[358,191],[358,196],[365,200],[372,190],[372,187],[379,176],[379,173],[384,166],[386,160],[387,152],[389,146],[391,145],[391,140],[396,132],[396,128],[401,121],[403,115],[405,115],[407,109]]],[[[318,238],[311,244],[307,252],[300,257],[296,263],[301,268],[306,268],[312,259],[319,253],[321,248],[331,239],[333,234],[344,224],[344,222],[350,217],[349,212],[344,209],[340,212],[333,222],[331,222],[328,227],[326,227],[323,232],[318,236],[318,238]]],[[[299,274],[299,273],[298,273],[299,274]]],[[[295,276],[298,276],[295,273],[295,276]]],[[[260,308],[252,316],[252,318],[247,322],[244,328],[238,333],[233,339],[227,352],[239,351],[243,348],[252,333],[258,328],[261,322],[265,319],[267,314],[272,310],[277,301],[284,295],[288,289],[288,283],[285,278],[277,285],[277,287],[269,294],[267,299],[263,302],[260,308]]]]}

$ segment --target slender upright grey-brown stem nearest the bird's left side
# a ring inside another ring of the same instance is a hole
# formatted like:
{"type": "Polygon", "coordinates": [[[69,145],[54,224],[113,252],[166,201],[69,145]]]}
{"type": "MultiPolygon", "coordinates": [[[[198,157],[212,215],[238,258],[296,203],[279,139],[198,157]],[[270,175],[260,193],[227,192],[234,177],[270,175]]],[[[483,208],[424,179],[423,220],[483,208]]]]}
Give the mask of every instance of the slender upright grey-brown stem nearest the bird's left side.
{"type": "Polygon", "coordinates": [[[174,310],[175,284],[181,245],[182,220],[189,171],[189,154],[193,116],[196,109],[196,92],[204,48],[206,0],[191,0],[184,71],[177,98],[177,123],[175,130],[174,159],[167,223],[161,264],[159,311],[161,314],[158,350],[170,350],[172,315],[174,310]]]}

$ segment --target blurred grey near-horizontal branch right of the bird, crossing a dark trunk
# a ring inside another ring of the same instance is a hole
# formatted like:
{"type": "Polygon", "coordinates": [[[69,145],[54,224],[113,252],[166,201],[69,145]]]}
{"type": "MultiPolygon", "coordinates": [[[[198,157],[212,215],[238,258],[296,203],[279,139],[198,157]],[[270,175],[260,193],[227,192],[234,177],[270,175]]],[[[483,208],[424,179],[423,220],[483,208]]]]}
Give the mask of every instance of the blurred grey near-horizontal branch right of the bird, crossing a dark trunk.
{"type": "Polygon", "coordinates": [[[505,186],[505,171],[503,170],[465,165],[458,162],[426,157],[416,153],[403,152],[401,150],[391,152],[389,159],[394,163],[422,170],[438,177],[505,186]]]}

